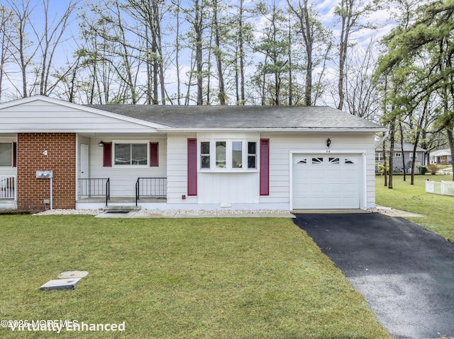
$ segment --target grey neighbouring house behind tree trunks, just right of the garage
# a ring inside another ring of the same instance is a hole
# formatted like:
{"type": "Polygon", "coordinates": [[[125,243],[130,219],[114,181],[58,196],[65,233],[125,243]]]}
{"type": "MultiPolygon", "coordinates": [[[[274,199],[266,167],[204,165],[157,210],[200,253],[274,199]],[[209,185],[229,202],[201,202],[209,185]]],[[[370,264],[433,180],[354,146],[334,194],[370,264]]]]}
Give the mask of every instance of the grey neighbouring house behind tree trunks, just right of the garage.
{"type": "MultiPolygon", "coordinates": [[[[394,168],[394,173],[403,173],[404,172],[404,161],[405,168],[407,173],[411,173],[411,163],[413,161],[413,149],[414,144],[409,142],[404,142],[404,152],[402,153],[402,146],[400,142],[394,144],[394,154],[392,157],[392,163],[394,168]]],[[[389,164],[389,145],[386,146],[387,153],[387,163],[389,164]]],[[[422,149],[419,146],[416,146],[416,159],[415,159],[415,173],[420,173],[419,167],[426,165],[426,150],[422,149]]],[[[383,145],[375,147],[375,163],[383,163],[383,145]]]]}

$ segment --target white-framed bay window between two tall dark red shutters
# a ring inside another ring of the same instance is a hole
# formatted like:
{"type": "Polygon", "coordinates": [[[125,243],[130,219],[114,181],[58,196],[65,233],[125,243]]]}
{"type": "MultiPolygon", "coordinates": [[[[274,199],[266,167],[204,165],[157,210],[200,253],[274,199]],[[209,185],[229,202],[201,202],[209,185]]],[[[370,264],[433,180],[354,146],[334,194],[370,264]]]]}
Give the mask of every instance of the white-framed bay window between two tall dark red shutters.
{"type": "Polygon", "coordinates": [[[207,171],[255,170],[258,163],[257,144],[258,142],[238,139],[201,141],[199,168],[207,171]]]}

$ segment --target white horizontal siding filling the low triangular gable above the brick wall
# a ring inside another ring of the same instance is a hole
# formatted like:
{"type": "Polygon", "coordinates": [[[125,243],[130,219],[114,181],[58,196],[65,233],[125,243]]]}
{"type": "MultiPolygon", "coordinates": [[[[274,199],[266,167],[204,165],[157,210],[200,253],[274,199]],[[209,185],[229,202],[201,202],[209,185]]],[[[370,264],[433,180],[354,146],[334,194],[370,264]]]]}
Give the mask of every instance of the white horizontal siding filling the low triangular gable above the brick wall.
{"type": "Polygon", "coordinates": [[[94,113],[80,109],[35,100],[1,110],[0,133],[8,132],[155,132],[152,127],[139,125],[118,115],[94,113]]]}

